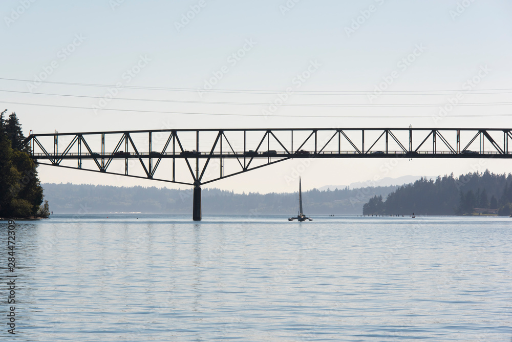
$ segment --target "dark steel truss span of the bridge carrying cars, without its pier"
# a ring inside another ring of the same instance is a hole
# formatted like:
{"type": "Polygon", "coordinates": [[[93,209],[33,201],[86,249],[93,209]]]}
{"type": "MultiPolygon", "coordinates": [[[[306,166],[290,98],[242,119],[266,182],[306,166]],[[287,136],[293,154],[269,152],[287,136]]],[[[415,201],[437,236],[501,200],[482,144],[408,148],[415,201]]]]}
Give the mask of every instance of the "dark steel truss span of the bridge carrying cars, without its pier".
{"type": "Polygon", "coordinates": [[[32,134],[25,144],[29,144],[31,155],[39,164],[199,186],[292,158],[512,158],[508,148],[511,132],[512,129],[426,128],[150,130],[32,134]],[[191,148],[195,151],[187,151],[190,143],[185,146],[180,138],[190,134],[194,136],[191,148]],[[206,134],[215,138],[203,142],[200,138],[206,134]],[[258,137],[257,143],[248,140],[249,134],[258,137]],[[136,143],[135,135],[145,135],[145,141],[136,143]],[[163,136],[160,140],[165,141],[158,151],[153,151],[155,135],[163,136]],[[243,148],[235,147],[233,135],[243,136],[243,148]],[[112,141],[111,137],[117,144],[107,151],[105,141],[112,141]],[[62,140],[66,143],[59,145],[62,140]],[[468,151],[476,142],[478,151],[468,151]],[[276,149],[270,149],[271,143],[276,149]],[[214,159],[220,162],[219,175],[206,180],[214,159]],[[65,160],[76,160],[77,166],[64,165],[65,160]],[[93,163],[88,167],[84,160],[93,163]],[[124,172],[109,169],[114,160],[124,160],[124,172]],[[143,173],[131,173],[129,160],[138,161],[143,173]],[[172,170],[158,178],[155,173],[164,160],[172,161],[172,170]],[[189,181],[176,179],[180,160],[185,161],[189,181]],[[225,160],[236,160],[238,166],[225,174],[225,160]]]}

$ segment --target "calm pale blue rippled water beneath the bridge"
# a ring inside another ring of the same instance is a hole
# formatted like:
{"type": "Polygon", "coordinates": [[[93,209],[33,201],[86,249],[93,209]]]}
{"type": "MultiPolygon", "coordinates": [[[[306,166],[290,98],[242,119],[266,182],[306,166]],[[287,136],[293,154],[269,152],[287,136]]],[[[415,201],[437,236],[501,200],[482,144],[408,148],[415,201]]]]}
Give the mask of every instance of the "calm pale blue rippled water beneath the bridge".
{"type": "MultiPolygon", "coordinates": [[[[109,216],[107,218],[107,216],[109,216]]],[[[512,219],[16,223],[19,341],[512,340],[512,219]]],[[[4,265],[5,264],[5,265],[4,265]]],[[[6,338],[7,337],[7,338],[6,338]]]]}

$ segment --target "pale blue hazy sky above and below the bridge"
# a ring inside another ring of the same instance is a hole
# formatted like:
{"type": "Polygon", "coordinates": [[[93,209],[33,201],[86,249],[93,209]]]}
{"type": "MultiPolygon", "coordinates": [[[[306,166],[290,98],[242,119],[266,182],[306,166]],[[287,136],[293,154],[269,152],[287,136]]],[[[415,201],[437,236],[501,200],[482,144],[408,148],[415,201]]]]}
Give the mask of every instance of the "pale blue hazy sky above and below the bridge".
{"type": "MultiPolygon", "coordinates": [[[[26,135],[29,130],[512,126],[510,105],[455,105],[439,114],[454,92],[462,94],[461,104],[512,102],[512,3],[505,0],[4,0],[0,13],[0,103],[16,112],[26,135]],[[308,78],[297,77],[303,73],[308,78]],[[287,89],[286,104],[362,106],[270,108],[278,93],[261,94],[287,89]],[[505,91],[474,94],[495,89],[505,91]],[[382,95],[382,90],[397,93],[382,95]],[[439,92],[444,90],[452,93],[439,92]],[[101,99],[110,94],[112,100],[101,99]]],[[[510,171],[509,161],[494,160],[483,165],[469,159],[313,160],[306,167],[293,160],[211,186],[296,191],[298,181],[287,180],[295,179],[297,169],[308,189],[376,176],[458,175],[477,164],[495,173],[510,171]]],[[[165,185],[49,166],[39,173],[42,182],[165,185]]]]}

